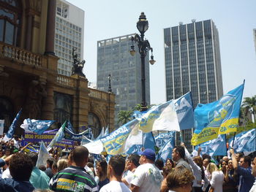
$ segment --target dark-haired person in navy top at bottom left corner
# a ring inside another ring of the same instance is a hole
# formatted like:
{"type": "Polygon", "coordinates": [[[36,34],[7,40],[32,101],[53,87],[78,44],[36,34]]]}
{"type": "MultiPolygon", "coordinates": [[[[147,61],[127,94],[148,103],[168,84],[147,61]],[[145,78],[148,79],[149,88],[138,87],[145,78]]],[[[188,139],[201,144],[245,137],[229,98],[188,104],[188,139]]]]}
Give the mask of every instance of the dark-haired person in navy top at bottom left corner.
{"type": "Polygon", "coordinates": [[[25,153],[16,153],[5,160],[0,158],[0,166],[4,166],[5,161],[10,161],[12,179],[0,178],[0,191],[32,192],[34,187],[29,182],[33,170],[31,158],[25,153]]]}

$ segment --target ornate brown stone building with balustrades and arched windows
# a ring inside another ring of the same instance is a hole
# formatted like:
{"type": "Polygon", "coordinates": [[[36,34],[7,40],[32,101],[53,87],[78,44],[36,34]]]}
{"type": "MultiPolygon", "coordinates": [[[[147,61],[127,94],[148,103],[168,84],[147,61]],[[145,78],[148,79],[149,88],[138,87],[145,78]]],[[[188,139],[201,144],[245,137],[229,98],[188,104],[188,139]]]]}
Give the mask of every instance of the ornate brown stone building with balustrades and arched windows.
{"type": "MultiPolygon", "coordinates": [[[[57,73],[56,0],[0,1],[0,119],[7,131],[22,108],[25,118],[70,120],[79,131],[114,128],[113,93],[88,88],[85,76],[57,73]]],[[[86,72],[88,70],[86,69],[86,72]]],[[[22,130],[17,128],[17,133],[22,130]]]]}

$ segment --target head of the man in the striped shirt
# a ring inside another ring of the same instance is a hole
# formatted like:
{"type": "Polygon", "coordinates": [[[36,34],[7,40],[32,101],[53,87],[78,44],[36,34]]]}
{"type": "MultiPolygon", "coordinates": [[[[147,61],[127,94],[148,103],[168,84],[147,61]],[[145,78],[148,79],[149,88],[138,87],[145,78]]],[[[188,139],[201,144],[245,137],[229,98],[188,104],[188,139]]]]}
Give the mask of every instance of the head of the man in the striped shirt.
{"type": "Polygon", "coordinates": [[[85,167],[88,162],[89,151],[86,147],[78,146],[73,150],[73,161],[76,166],[85,167]]]}

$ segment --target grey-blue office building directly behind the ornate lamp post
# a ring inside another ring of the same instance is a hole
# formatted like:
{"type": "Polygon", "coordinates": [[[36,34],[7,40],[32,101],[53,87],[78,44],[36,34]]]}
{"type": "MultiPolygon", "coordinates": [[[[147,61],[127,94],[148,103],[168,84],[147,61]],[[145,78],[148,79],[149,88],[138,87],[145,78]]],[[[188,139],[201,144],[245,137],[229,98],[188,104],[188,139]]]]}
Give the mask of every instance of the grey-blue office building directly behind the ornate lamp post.
{"type": "MultiPolygon", "coordinates": [[[[120,110],[132,110],[141,103],[140,53],[135,45],[135,56],[130,55],[131,37],[134,34],[105,39],[97,42],[97,89],[108,91],[108,76],[111,74],[111,87],[116,94],[117,114],[120,110]]],[[[149,64],[146,56],[146,102],[150,104],[149,64]]]]}

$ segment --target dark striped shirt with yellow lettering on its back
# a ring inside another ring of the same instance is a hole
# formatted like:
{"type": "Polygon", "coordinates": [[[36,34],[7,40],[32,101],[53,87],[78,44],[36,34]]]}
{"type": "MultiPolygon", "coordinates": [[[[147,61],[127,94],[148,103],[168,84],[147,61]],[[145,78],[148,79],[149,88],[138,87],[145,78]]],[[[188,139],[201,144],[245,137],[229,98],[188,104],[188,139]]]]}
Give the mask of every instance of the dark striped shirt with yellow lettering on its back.
{"type": "Polygon", "coordinates": [[[50,189],[53,191],[98,191],[97,184],[90,174],[78,166],[69,166],[55,174],[50,180],[50,189]]]}

